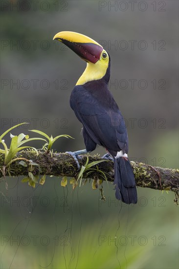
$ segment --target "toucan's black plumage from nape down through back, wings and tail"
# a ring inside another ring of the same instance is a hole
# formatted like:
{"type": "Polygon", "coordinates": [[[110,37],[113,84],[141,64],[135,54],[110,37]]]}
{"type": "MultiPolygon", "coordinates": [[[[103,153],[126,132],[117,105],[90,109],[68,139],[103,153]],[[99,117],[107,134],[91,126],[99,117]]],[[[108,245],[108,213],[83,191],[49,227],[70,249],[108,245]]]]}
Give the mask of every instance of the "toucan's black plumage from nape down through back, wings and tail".
{"type": "Polygon", "coordinates": [[[136,203],[134,174],[127,157],[116,157],[122,150],[128,153],[128,135],[123,116],[108,88],[110,59],[102,79],[77,85],[71,92],[70,106],[83,124],[83,137],[87,151],[96,144],[107,149],[114,159],[115,196],[126,203],[136,203]]]}

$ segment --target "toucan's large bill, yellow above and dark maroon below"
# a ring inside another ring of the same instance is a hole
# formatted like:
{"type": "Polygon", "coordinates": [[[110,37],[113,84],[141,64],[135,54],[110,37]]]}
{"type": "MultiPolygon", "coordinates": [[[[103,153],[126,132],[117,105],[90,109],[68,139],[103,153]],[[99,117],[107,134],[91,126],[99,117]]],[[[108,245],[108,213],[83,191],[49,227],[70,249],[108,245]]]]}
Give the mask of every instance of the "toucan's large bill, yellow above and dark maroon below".
{"type": "Polygon", "coordinates": [[[53,40],[56,39],[72,49],[78,56],[87,62],[95,64],[100,60],[103,47],[93,39],[70,31],[57,33],[53,40]]]}

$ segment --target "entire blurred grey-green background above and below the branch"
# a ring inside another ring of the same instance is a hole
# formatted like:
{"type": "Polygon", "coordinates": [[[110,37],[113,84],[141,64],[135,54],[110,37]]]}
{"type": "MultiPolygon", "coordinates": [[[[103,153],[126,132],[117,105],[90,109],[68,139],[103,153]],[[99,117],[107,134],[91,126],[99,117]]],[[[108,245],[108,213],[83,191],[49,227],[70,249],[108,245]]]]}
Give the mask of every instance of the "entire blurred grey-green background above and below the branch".
{"type": "MultiPolygon", "coordinates": [[[[53,149],[84,149],[69,96],[86,63],[52,41],[75,31],[110,53],[110,90],[126,119],[131,160],[178,168],[178,1],[6,0],[0,20],[1,132],[26,121],[12,134],[69,134],[75,140],[53,149]]],[[[35,190],[21,178],[6,178],[8,190],[1,182],[1,268],[179,267],[173,193],[137,188],[137,205],[127,206],[114,200],[111,183],[102,202],[91,182],[72,192],[60,181],[35,190]]]]}

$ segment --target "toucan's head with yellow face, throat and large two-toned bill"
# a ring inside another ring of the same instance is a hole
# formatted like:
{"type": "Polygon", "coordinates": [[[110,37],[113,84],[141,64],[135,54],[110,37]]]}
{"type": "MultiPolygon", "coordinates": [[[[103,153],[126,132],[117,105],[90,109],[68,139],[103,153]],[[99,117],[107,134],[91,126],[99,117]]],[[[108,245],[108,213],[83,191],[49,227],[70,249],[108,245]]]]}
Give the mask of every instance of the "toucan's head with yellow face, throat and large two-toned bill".
{"type": "MultiPolygon", "coordinates": [[[[109,54],[93,39],[85,35],[69,31],[57,33],[53,40],[54,39],[67,45],[78,56],[87,62],[87,68],[76,85],[82,85],[88,81],[102,79],[105,77],[107,70],[109,71],[109,54]]],[[[107,80],[109,79],[107,78],[107,80]]]]}

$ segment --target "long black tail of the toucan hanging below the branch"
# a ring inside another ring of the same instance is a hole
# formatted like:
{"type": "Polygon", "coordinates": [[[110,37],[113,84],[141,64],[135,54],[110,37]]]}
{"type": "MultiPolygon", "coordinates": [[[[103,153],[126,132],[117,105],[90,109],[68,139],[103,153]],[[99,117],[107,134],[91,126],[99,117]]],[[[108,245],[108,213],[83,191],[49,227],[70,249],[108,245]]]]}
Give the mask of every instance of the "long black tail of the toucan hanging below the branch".
{"type": "Polygon", "coordinates": [[[126,157],[114,157],[114,184],[116,199],[125,203],[137,202],[134,173],[126,157]]]}

